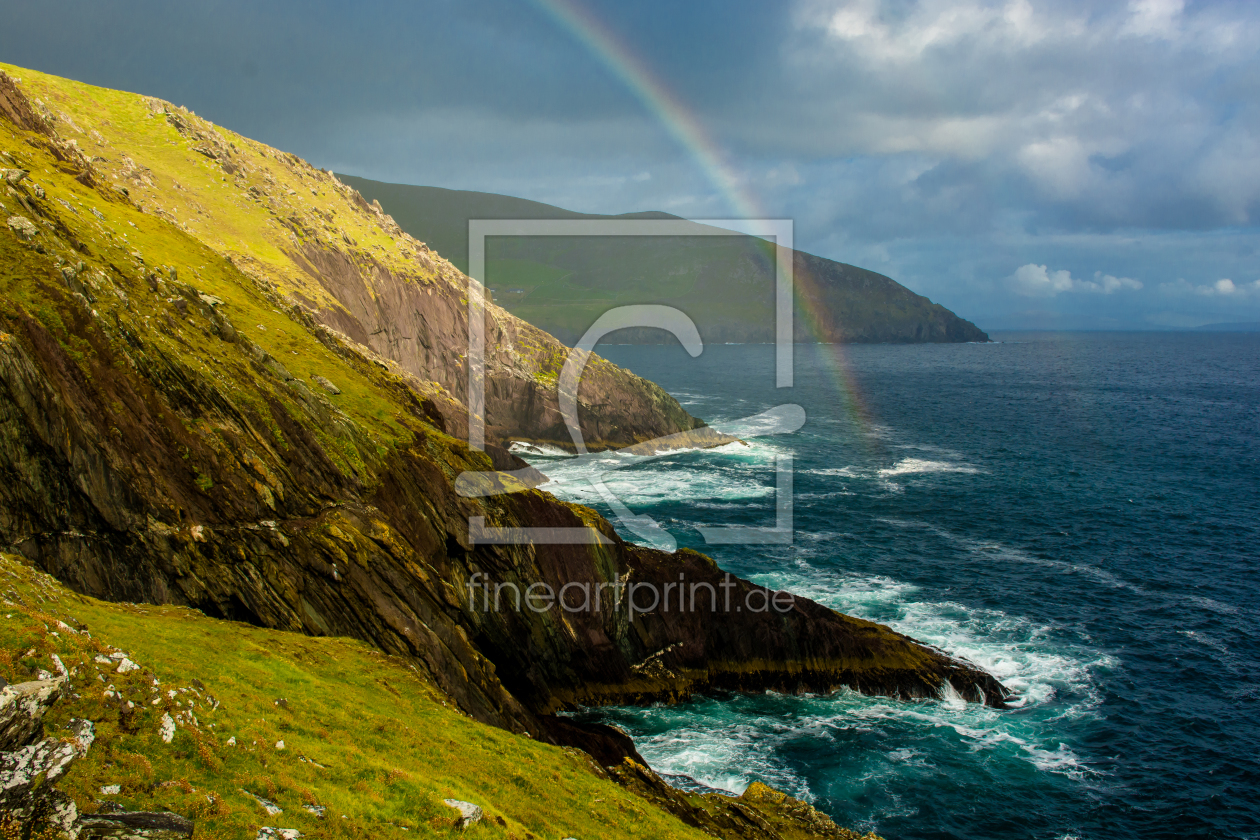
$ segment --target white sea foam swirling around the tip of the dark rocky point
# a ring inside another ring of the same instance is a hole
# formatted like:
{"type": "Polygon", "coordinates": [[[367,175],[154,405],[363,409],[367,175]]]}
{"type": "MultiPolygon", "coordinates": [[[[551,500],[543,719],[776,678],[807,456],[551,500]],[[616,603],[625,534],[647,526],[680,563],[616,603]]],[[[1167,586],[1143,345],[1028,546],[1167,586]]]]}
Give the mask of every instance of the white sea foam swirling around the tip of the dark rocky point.
{"type": "MultiPolygon", "coordinates": [[[[1096,671],[1114,666],[1109,656],[1052,640],[1052,628],[1000,611],[920,599],[917,587],[886,577],[845,576],[799,563],[790,572],[753,579],[849,615],[881,621],[968,659],[1019,693],[1016,705],[1023,712],[1013,715],[966,703],[951,689],[940,701],[920,703],[848,690],[828,698],[784,699],[793,708],[781,715],[732,714],[722,707],[689,714],[685,707],[674,708],[656,712],[668,715],[668,734],[636,739],[654,767],[736,793],[760,778],[809,798],[811,793],[804,780],[786,769],[776,756],[781,747],[801,739],[834,738],[832,733],[854,727],[897,723],[912,725],[924,737],[948,729],[974,751],[1002,753],[1043,772],[1072,778],[1091,773],[1071,747],[1062,743],[1055,722],[1096,714],[1101,701],[1096,671]]],[[[896,764],[915,754],[914,751],[890,754],[886,772],[903,772],[896,764]]]]}

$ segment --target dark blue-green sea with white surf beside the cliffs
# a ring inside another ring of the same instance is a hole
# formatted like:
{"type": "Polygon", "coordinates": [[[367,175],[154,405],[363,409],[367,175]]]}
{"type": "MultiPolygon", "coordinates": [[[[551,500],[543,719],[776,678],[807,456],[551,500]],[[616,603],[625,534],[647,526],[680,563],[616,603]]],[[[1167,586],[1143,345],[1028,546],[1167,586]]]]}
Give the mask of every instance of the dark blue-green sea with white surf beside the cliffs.
{"type": "MultiPolygon", "coordinates": [[[[659,769],[755,778],[908,837],[1260,837],[1260,336],[1002,335],[992,345],[601,348],[694,414],[781,403],[788,436],[610,486],[680,545],[965,656],[1021,693],[701,699],[614,709],[659,769]],[[774,523],[788,547],[704,545],[774,523]]],[[[578,475],[552,490],[601,508],[578,475]]]]}

